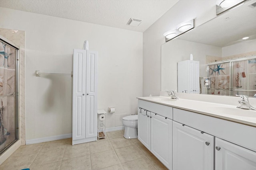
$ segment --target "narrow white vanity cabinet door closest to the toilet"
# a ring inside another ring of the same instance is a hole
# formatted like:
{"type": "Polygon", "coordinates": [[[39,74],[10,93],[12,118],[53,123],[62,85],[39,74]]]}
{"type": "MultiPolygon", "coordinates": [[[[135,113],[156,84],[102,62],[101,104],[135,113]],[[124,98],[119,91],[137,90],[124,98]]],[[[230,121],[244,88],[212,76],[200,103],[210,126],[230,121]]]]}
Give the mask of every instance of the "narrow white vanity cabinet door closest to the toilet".
{"type": "Polygon", "coordinates": [[[150,150],[150,111],[138,108],[138,140],[150,150]]]}

